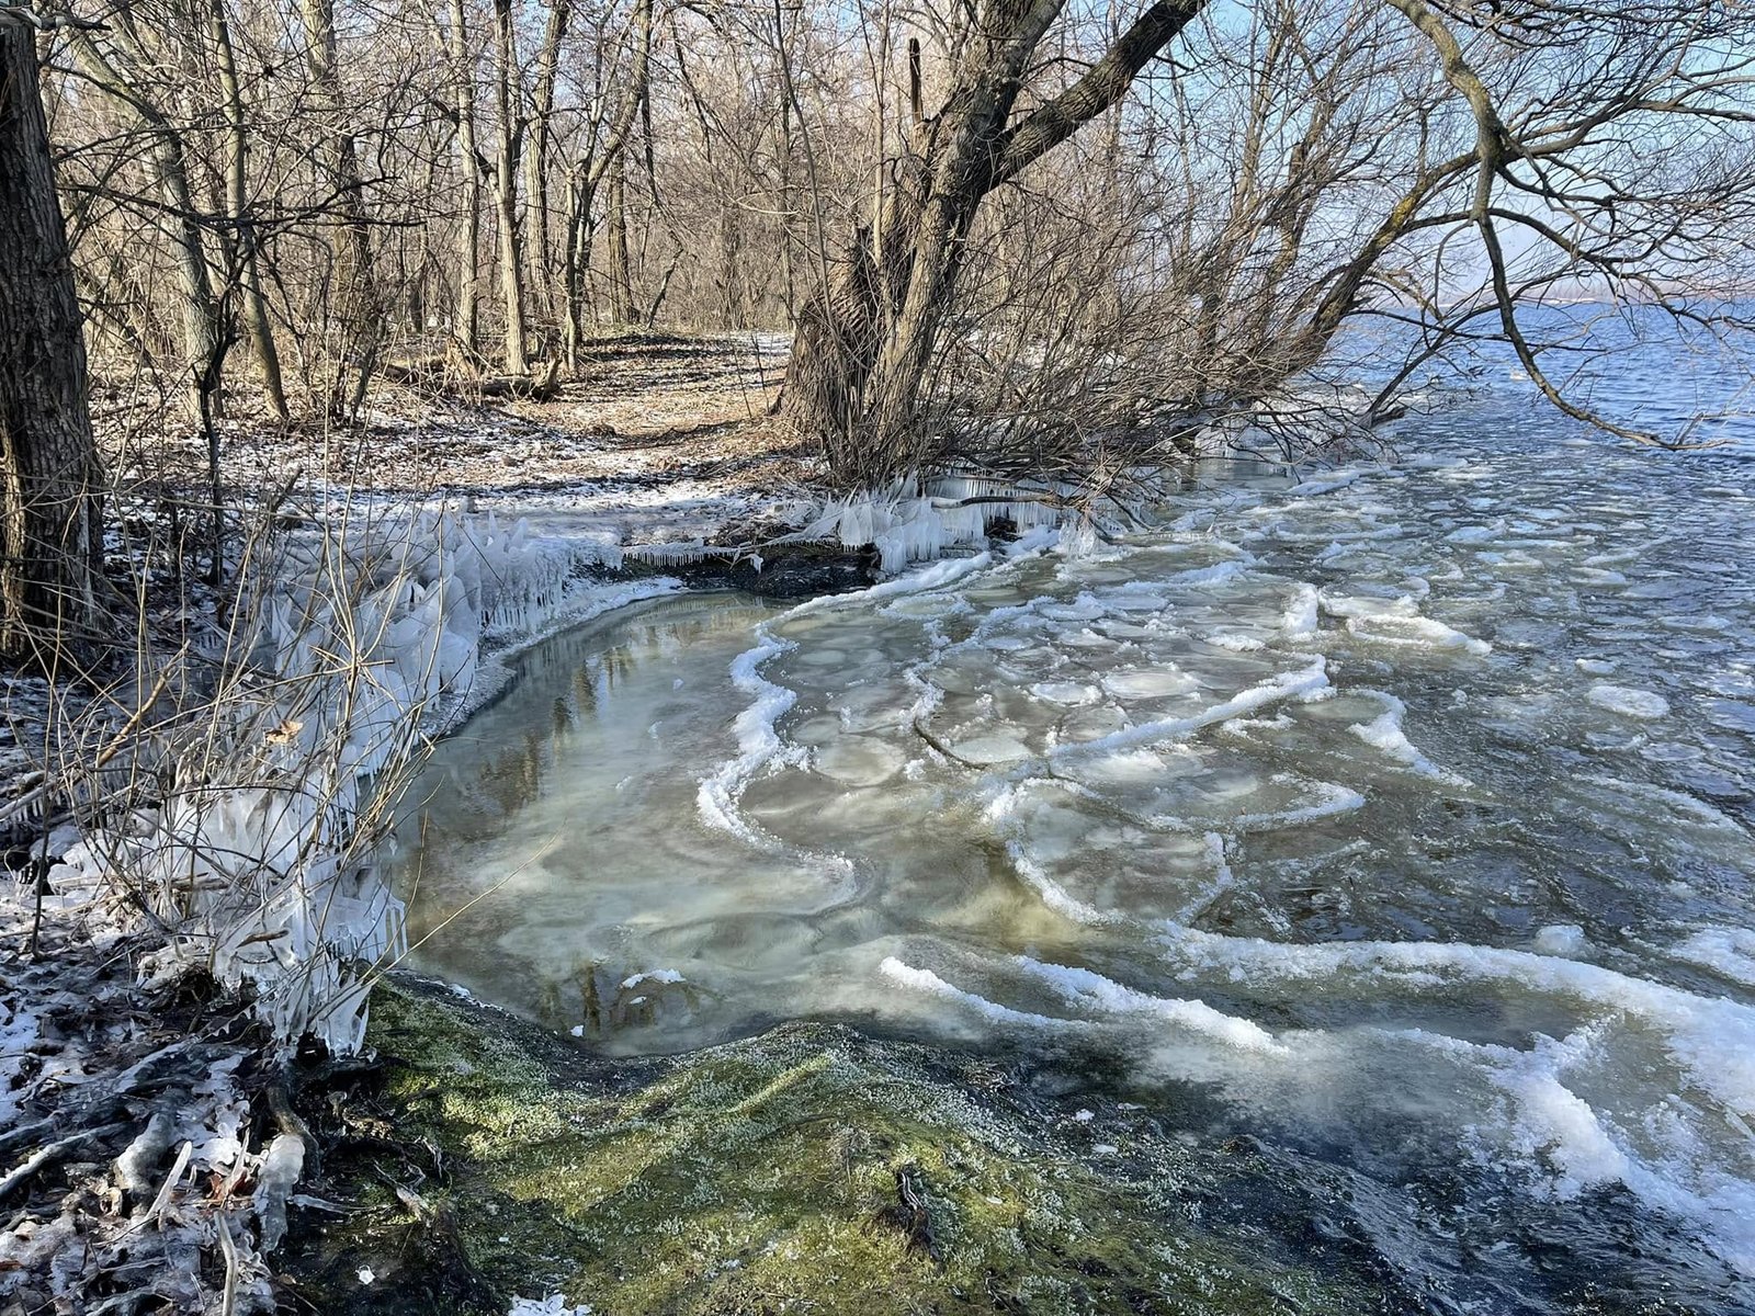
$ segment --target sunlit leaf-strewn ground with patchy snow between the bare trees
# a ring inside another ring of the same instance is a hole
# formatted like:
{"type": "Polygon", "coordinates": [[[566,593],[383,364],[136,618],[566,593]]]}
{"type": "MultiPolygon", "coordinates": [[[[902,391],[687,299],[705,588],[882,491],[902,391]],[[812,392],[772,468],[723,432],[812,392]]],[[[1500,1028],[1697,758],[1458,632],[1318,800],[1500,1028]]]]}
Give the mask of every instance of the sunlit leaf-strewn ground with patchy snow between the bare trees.
{"type": "MultiPolygon", "coordinates": [[[[221,423],[235,497],[462,502],[477,511],[602,523],[628,542],[721,537],[767,504],[816,491],[821,461],[772,416],[788,342],[774,335],[639,333],[593,346],[546,400],[374,384],[346,430],[247,414],[221,423]]],[[[202,433],[105,426],[111,465],[174,486],[207,481],[202,433]]]]}

